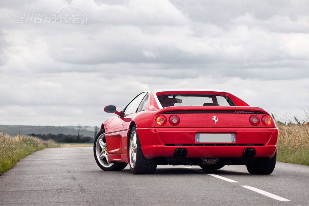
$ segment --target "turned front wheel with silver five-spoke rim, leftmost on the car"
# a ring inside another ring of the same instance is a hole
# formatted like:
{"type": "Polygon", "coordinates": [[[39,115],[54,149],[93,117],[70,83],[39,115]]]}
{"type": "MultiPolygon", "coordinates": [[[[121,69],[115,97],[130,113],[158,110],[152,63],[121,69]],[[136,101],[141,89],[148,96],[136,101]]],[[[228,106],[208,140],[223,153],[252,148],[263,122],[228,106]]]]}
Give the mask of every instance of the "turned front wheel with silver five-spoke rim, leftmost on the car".
{"type": "Polygon", "coordinates": [[[104,171],[119,171],[123,170],[128,165],[128,163],[122,162],[108,162],[104,129],[102,129],[95,137],[95,142],[93,143],[93,153],[95,155],[95,162],[104,171]]]}

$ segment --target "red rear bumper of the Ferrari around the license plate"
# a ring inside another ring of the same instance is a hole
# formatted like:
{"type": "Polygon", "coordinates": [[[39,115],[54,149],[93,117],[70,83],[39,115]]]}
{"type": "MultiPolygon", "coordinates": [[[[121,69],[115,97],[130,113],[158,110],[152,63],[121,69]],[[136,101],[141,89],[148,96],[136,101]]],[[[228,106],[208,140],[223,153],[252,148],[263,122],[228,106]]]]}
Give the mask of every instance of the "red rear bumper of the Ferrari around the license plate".
{"type": "Polygon", "coordinates": [[[276,152],[277,128],[137,128],[142,152],[148,159],[173,157],[176,148],[186,148],[187,158],[240,158],[243,149],[254,148],[254,157],[272,158],[276,152]],[[235,133],[236,142],[203,145],[196,133],[235,133]]]}

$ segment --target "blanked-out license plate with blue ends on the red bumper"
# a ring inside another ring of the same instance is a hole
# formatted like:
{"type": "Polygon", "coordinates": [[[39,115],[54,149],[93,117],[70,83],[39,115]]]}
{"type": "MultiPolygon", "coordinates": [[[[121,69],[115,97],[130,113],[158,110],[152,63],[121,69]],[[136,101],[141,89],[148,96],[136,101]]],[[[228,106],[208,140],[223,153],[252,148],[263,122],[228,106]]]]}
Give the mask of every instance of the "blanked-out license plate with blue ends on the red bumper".
{"type": "Polygon", "coordinates": [[[236,141],[235,134],[210,134],[210,133],[201,133],[195,134],[195,142],[201,143],[235,143],[236,141]]]}

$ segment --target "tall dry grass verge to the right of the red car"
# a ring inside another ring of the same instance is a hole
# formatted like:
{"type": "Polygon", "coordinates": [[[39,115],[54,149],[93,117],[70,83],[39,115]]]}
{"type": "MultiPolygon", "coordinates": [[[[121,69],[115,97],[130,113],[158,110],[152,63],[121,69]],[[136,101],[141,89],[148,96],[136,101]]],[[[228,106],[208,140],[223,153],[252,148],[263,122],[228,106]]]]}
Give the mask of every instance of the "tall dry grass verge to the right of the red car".
{"type": "Polygon", "coordinates": [[[277,122],[277,161],[309,165],[308,124],[282,124],[277,122]]]}

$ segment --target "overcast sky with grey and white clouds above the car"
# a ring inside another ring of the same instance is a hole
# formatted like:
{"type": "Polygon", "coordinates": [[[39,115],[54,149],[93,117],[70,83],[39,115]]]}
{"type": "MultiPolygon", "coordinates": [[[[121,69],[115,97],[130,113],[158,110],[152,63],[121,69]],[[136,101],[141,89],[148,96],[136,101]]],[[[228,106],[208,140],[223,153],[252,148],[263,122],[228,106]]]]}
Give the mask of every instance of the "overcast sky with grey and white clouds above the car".
{"type": "Polygon", "coordinates": [[[226,90],[280,118],[308,112],[309,1],[0,6],[0,124],[99,126],[114,115],[104,106],[158,88],[226,90]]]}

